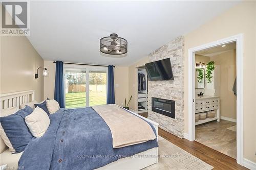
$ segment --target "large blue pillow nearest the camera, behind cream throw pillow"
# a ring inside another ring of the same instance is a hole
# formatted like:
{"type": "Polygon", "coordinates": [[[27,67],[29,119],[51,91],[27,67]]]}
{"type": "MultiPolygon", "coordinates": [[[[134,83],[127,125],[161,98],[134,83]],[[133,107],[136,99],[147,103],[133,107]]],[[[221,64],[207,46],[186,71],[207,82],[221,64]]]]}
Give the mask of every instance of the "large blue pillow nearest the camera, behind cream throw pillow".
{"type": "Polygon", "coordinates": [[[25,123],[25,117],[32,112],[33,109],[26,106],[24,109],[0,119],[4,132],[9,138],[15,153],[24,151],[29,141],[33,138],[25,123]]]}

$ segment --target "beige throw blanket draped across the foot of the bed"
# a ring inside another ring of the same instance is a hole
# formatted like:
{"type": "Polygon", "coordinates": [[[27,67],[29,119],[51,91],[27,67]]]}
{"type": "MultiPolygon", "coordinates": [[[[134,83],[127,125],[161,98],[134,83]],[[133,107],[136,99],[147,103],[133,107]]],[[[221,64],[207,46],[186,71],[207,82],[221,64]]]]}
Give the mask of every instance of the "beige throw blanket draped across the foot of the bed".
{"type": "Polygon", "coordinates": [[[122,148],[156,139],[153,129],[145,120],[117,105],[99,105],[92,106],[92,108],[109,126],[113,148],[122,148]]]}

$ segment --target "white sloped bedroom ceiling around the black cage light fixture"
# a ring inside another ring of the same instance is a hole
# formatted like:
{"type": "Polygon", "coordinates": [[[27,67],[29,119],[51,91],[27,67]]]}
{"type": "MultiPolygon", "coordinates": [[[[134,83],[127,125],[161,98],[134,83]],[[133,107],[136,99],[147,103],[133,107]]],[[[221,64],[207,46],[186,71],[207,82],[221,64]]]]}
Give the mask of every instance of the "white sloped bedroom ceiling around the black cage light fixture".
{"type": "Polygon", "coordinates": [[[31,1],[28,37],[45,60],[131,65],[188,33],[237,1],[31,1]],[[117,33],[128,41],[123,58],[99,52],[99,40],[117,33]]]}

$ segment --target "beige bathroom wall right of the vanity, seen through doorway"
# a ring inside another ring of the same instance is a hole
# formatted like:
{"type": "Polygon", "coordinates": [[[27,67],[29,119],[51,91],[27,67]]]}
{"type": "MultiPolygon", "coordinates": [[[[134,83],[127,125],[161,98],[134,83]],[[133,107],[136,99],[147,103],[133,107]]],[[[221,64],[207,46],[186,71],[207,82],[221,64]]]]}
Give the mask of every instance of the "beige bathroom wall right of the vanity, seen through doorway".
{"type": "Polygon", "coordinates": [[[210,57],[220,66],[220,100],[221,116],[237,118],[236,95],[232,88],[236,79],[236,50],[230,50],[217,56],[210,57]]]}

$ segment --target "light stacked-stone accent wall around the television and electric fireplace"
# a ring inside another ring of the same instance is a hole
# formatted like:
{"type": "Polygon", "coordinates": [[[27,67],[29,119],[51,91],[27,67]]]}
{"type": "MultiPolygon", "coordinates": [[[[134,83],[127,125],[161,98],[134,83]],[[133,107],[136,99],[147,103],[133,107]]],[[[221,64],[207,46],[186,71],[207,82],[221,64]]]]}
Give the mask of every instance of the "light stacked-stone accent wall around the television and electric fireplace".
{"type": "Polygon", "coordinates": [[[148,81],[148,118],[159,127],[184,138],[184,37],[180,36],[149,55],[149,61],[170,58],[174,80],[148,81]],[[153,112],[152,97],[175,101],[175,118],[153,112]]]}

